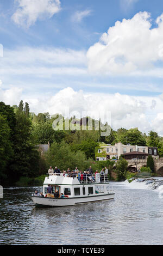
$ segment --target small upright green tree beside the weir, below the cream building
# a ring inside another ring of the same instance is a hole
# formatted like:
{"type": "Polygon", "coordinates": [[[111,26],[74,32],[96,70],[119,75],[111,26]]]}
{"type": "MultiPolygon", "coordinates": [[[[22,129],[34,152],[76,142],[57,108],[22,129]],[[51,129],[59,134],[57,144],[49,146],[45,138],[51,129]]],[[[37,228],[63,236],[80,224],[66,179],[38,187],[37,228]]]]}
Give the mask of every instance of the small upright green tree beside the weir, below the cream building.
{"type": "Polygon", "coordinates": [[[123,157],[116,163],[117,180],[126,180],[128,162],[123,157]]]}

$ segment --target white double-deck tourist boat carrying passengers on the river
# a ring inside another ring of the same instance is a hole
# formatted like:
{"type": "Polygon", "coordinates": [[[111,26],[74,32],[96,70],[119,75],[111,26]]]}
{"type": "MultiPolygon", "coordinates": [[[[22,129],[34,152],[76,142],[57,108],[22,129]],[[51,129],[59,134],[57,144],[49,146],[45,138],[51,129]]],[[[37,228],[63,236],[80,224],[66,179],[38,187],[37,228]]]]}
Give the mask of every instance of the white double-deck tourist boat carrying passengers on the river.
{"type": "Polygon", "coordinates": [[[36,206],[69,206],[111,200],[114,199],[115,193],[110,190],[108,178],[105,175],[88,175],[84,182],[80,182],[76,177],[72,178],[60,174],[49,175],[45,178],[43,196],[33,194],[32,200],[36,206]],[[48,185],[52,187],[52,197],[47,197],[48,185]],[[59,193],[58,198],[53,196],[56,191],[59,193]],[[61,193],[64,194],[65,198],[60,198],[61,193]]]}

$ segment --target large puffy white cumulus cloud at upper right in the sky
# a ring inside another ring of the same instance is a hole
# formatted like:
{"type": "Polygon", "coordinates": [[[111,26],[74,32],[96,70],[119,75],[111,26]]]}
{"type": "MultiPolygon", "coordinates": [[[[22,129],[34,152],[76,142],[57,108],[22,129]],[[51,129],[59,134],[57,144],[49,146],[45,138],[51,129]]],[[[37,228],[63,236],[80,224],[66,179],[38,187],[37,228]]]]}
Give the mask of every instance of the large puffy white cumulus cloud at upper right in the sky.
{"type": "Polygon", "coordinates": [[[148,74],[152,70],[157,76],[155,63],[163,60],[163,14],[156,19],[156,25],[152,28],[151,15],[146,11],[132,19],[117,21],[87,51],[89,71],[105,75],[136,75],[136,72],[143,75],[144,71],[148,74]]]}

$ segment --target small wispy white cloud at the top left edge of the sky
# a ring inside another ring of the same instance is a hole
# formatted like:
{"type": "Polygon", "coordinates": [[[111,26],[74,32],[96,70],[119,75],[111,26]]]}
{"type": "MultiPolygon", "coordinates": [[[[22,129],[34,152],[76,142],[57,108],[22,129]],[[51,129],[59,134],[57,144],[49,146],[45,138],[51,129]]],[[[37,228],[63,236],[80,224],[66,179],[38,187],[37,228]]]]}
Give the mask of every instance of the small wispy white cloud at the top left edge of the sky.
{"type": "Polygon", "coordinates": [[[59,0],[15,0],[18,3],[12,20],[18,26],[30,27],[36,20],[51,18],[60,11],[59,0]]]}

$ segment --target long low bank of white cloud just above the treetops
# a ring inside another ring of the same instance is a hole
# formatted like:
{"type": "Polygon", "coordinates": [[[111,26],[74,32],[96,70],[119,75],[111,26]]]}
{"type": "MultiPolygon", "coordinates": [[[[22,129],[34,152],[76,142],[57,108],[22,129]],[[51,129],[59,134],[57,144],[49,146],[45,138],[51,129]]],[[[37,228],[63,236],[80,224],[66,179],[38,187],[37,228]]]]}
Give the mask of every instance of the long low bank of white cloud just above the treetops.
{"type": "Polygon", "coordinates": [[[20,100],[29,102],[30,111],[36,114],[44,112],[64,114],[64,109],[68,108],[70,113],[78,112],[80,116],[77,117],[82,117],[83,112],[91,112],[94,115],[92,117],[98,119],[104,112],[110,111],[113,129],[139,127],[142,132],[155,130],[163,136],[163,113],[160,113],[162,102],[159,97],[84,93],[83,90],[75,91],[70,87],[53,95],[40,93],[37,96],[32,94],[27,96],[21,88],[14,86],[9,89],[0,88],[0,101],[18,105],[20,100]],[[155,107],[151,108],[153,103],[155,107]]]}

